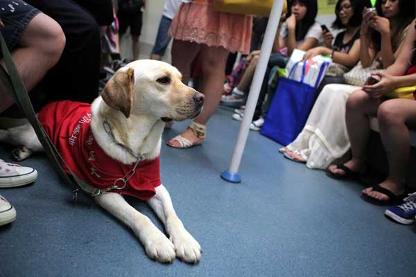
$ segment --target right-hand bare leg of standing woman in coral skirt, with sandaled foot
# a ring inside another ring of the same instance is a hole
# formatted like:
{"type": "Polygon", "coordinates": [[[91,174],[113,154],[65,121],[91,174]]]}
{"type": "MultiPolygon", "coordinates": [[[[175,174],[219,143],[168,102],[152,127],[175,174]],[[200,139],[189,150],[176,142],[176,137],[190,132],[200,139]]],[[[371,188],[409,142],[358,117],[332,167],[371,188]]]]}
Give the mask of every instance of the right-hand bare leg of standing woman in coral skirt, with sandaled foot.
{"type": "MultiPolygon", "coordinates": [[[[202,112],[193,121],[205,125],[209,117],[214,114],[221,99],[225,79],[225,64],[229,51],[223,47],[209,47],[205,44],[202,44],[200,48],[203,76],[202,93],[205,94],[205,101],[202,112]]],[[[200,141],[191,129],[186,129],[181,136],[191,143],[200,141]]],[[[169,141],[168,143],[174,147],[180,146],[177,141],[169,141]]]]}

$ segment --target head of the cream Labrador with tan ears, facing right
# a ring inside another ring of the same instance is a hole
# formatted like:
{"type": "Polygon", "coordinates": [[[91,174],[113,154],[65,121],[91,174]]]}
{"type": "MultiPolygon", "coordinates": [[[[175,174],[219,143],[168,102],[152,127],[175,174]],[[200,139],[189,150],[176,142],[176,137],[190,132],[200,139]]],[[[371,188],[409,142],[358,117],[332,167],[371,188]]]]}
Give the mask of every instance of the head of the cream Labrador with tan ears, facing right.
{"type": "Polygon", "coordinates": [[[198,116],[205,98],[181,78],[166,62],[137,60],[114,73],[101,97],[126,118],[135,114],[181,121],[198,116]]]}

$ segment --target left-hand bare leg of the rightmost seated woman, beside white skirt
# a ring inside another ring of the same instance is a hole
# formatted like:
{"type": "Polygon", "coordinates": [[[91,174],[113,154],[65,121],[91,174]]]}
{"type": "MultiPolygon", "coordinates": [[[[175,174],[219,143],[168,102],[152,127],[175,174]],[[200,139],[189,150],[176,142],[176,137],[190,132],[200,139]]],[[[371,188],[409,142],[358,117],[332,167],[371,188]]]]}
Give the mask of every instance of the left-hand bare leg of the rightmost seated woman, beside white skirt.
{"type": "MultiPolygon", "coordinates": [[[[347,100],[345,121],[351,142],[352,159],[344,165],[354,172],[365,171],[365,154],[370,136],[368,116],[375,116],[379,105],[379,99],[371,98],[363,90],[354,91],[347,100]]],[[[338,169],[336,166],[330,166],[329,170],[338,175],[345,174],[344,170],[338,169]]]]}

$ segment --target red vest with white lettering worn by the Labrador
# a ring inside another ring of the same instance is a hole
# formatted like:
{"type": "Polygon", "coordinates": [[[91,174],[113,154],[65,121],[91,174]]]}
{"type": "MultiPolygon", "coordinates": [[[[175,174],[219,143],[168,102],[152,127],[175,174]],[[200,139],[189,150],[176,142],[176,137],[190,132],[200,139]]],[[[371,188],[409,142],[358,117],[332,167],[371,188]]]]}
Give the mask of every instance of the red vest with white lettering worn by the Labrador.
{"type": "MultiPolygon", "coordinates": [[[[52,102],[42,108],[38,118],[72,172],[94,188],[112,186],[116,179],[123,178],[135,166],[112,159],[96,143],[89,125],[89,104],[69,100],[52,102]]],[[[155,195],[155,187],[160,184],[157,157],[153,161],[140,161],[135,175],[121,193],[146,200],[155,195]]],[[[119,193],[119,190],[114,192],[119,193]]]]}

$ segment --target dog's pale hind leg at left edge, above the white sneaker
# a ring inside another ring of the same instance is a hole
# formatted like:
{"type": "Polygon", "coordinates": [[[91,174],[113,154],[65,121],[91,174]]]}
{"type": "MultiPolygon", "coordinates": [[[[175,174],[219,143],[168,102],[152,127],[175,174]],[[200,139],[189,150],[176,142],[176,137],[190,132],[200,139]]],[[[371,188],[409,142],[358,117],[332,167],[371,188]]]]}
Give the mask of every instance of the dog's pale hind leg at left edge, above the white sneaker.
{"type": "Polygon", "coordinates": [[[33,152],[43,150],[42,144],[37,139],[35,130],[28,123],[6,130],[0,129],[0,141],[19,146],[12,151],[13,157],[18,161],[26,159],[33,152]]]}

